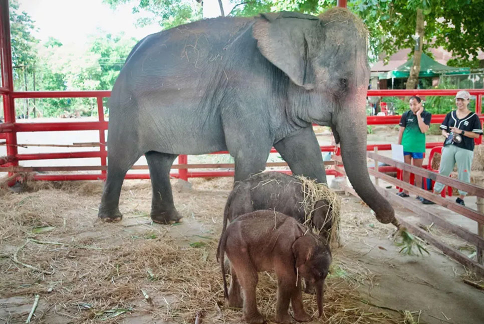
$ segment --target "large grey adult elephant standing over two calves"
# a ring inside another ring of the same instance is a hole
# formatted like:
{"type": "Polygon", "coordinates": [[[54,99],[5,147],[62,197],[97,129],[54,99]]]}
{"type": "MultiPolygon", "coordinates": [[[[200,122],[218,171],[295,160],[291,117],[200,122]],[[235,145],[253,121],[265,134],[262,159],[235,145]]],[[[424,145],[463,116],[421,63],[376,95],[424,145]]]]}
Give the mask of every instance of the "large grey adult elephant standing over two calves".
{"type": "Polygon", "coordinates": [[[151,218],[180,219],[178,154],[228,150],[235,180],[265,169],[274,145],[294,174],[326,182],[312,123],[331,126],[348,177],[384,223],[391,205],[366,164],[367,30],[350,11],[205,19],[151,34],[129,54],[110,98],[108,174],[99,217],[118,221],[124,176],[145,154],[151,218]]]}

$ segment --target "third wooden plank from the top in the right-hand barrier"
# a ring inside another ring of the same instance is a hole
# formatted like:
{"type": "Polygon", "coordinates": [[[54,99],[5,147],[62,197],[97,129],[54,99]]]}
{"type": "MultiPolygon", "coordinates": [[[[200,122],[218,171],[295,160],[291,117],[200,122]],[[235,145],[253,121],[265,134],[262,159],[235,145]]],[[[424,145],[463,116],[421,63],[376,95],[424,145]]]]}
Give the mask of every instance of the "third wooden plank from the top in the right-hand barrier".
{"type": "Polygon", "coordinates": [[[380,193],[386,197],[388,200],[391,202],[395,202],[402,207],[405,207],[418,216],[424,218],[425,220],[429,222],[435,223],[437,226],[442,227],[457,236],[459,236],[462,239],[465,239],[469,243],[474,244],[478,248],[483,248],[484,249],[484,239],[479,237],[478,235],[468,231],[467,229],[463,228],[462,226],[453,224],[444,218],[442,218],[440,215],[434,214],[430,211],[428,211],[428,208],[425,208],[421,203],[419,202],[413,202],[412,200],[409,200],[409,198],[402,198],[399,195],[396,195],[394,192],[390,190],[386,190],[382,187],[376,187],[380,193]]]}

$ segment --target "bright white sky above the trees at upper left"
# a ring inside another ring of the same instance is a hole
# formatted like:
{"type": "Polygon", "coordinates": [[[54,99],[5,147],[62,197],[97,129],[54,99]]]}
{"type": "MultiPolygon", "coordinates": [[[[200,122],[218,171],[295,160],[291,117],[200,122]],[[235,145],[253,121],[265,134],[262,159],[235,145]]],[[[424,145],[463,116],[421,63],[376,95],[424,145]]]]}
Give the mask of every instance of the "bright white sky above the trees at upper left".
{"type": "MultiPolygon", "coordinates": [[[[102,0],[20,0],[20,9],[26,11],[39,28],[36,37],[42,41],[49,36],[64,44],[85,44],[90,34],[124,31],[127,35],[141,39],[161,28],[156,25],[138,28],[134,25],[137,16],[131,13],[132,4],[120,5],[116,10],[102,0]],[[99,31],[102,30],[102,31],[99,31]]],[[[232,4],[223,0],[225,13],[232,4]]],[[[203,16],[220,14],[217,0],[204,0],[203,16]]]]}

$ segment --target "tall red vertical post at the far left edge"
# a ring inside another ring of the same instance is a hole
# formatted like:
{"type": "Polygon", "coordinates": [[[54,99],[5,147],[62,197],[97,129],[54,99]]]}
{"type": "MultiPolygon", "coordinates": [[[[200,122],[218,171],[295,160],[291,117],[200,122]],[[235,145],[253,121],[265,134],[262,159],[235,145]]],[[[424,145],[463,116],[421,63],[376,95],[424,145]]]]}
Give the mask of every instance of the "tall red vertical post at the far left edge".
{"type": "MultiPolygon", "coordinates": [[[[12,74],[12,47],[10,42],[10,14],[9,0],[0,0],[0,61],[2,64],[2,86],[8,89],[4,94],[4,116],[5,123],[13,123],[14,129],[6,134],[7,156],[16,158],[17,132],[15,130],[15,104],[12,92],[14,91],[14,81],[12,74]]],[[[7,165],[19,165],[17,159],[12,160],[7,165]]],[[[9,172],[9,175],[12,175],[9,172]]]]}

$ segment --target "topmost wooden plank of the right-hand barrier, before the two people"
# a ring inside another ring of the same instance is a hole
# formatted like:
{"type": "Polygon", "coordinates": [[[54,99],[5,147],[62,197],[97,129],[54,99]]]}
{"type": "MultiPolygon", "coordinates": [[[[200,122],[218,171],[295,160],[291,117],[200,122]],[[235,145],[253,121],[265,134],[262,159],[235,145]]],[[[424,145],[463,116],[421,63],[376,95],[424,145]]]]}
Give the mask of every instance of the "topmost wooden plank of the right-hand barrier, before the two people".
{"type": "Polygon", "coordinates": [[[383,155],[378,154],[378,156],[375,156],[375,153],[373,152],[367,152],[367,156],[370,158],[378,158],[379,161],[382,161],[388,165],[396,166],[404,171],[409,171],[411,173],[418,174],[426,178],[436,180],[437,182],[449,185],[453,188],[461,189],[463,191],[466,191],[470,195],[484,197],[484,188],[481,188],[477,185],[473,185],[467,182],[462,182],[448,176],[440,175],[436,172],[429,171],[422,167],[417,167],[407,163],[399,162],[390,157],[386,157],[383,155]]]}

